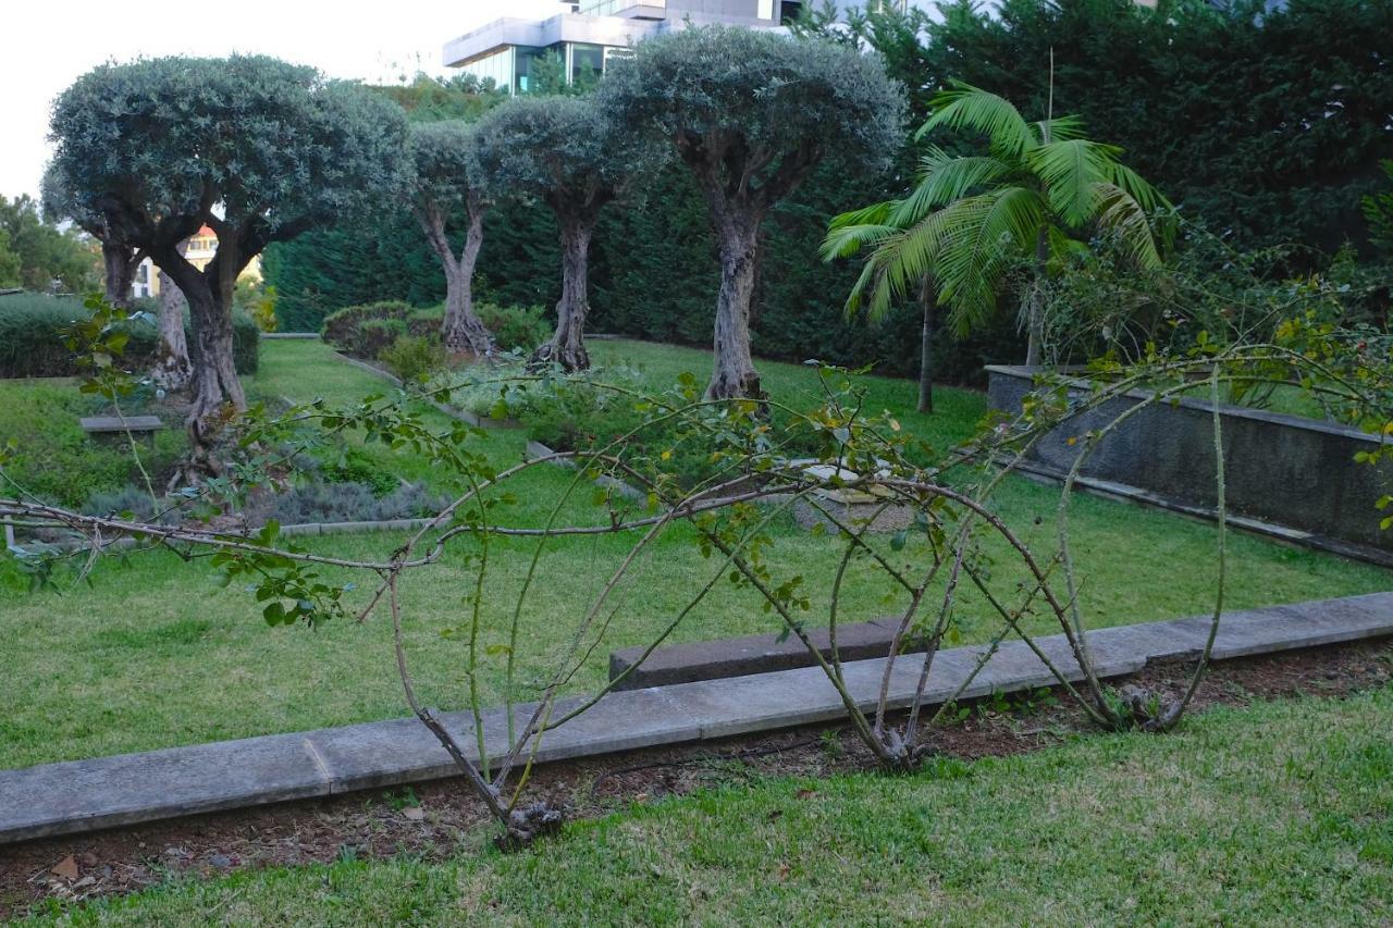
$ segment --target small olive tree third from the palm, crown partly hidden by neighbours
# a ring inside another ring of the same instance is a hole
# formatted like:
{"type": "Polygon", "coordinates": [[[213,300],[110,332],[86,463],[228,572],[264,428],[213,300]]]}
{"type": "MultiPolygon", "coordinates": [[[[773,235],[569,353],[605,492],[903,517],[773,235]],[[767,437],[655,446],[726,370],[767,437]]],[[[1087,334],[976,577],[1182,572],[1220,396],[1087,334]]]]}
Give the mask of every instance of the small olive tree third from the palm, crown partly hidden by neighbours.
{"type": "Polygon", "coordinates": [[[474,266],[483,245],[483,213],[489,206],[475,130],[457,120],[415,123],[407,149],[414,169],[411,212],[444,269],[442,339],[451,351],[489,355],[493,337],[474,312],[474,266]],[[464,249],[456,255],[446,230],[461,215],[464,249]]]}

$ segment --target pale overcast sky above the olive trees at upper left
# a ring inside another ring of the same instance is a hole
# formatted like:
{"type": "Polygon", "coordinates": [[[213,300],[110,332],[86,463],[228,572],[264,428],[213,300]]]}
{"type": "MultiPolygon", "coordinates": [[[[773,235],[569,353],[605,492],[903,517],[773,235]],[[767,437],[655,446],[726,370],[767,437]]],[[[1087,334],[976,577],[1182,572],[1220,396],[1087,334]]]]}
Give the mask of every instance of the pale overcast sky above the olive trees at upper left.
{"type": "Polygon", "coordinates": [[[111,0],[6,4],[0,49],[0,194],[38,195],[49,106],[78,75],[138,56],[273,54],[333,77],[444,72],[440,49],[500,15],[560,13],[557,0],[241,0],[233,7],[111,0]],[[390,15],[382,15],[387,13],[390,15]],[[217,22],[217,26],[212,24],[217,22]]]}

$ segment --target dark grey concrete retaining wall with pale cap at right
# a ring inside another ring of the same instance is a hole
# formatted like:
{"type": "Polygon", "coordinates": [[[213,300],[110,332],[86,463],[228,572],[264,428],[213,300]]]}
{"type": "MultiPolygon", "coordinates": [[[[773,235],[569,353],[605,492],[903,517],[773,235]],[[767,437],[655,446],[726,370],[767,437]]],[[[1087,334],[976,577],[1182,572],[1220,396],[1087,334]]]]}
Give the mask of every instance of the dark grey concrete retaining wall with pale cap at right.
{"type": "MultiPolygon", "coordinates": [[[[1034,389],[1028,368],[988,366],[992,405],[1014,414],[1034,389]]],[[[1045,436],[1029,456],[1032,470],[1063,477],[1082,450],[1082,436],[1149,397],[1133,390],[1075,415],[1045,436]],[[1068,439],[1080,439],[1070,444],[1068,439]]],[[[1220,407],[1227,504],[1231,513],[1277,527],[1393,550],[1376,500],[1393,492],[1393,465],[1358,464],[1355,453],[1379,447],[1376,436],[1332,422],[1280,412],[1220,407]]],[[[1208,403],[1158,403],[1102,440],[1082,475],[1137,488],[1184,507],[1216,504],[1213,419],[1208,403]]]]}

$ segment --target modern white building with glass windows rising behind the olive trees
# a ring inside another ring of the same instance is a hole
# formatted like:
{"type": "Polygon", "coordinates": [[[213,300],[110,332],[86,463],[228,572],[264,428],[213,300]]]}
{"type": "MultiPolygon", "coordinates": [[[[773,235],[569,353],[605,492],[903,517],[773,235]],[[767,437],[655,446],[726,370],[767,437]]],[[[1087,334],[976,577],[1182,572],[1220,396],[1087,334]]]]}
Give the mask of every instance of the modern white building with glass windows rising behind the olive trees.
{"type": "MultiPolygon", "coordinates": [[[[820,8],[822,0],[811,0],[820,8]]],[[[865,7],[868,0],[836,6],[865,7]]],[[[873,0],[871,0],[873,1],[873,0]]],[[[905,3],[907,0],[882,0],[905,3]]],[[[914,6],[922,6],[917,1],[914,6]]],[[[609,61],[630,46],[685,25],[742,25],[776,29],[802,11],[801,0],[563,0],[563,11],[546,20],[501,18],[467,32],[444,46],[446,67],[490,78],[511,93],[535,86],[539,60],[554,56],[567,82],[603,74],[609,61]]]]}

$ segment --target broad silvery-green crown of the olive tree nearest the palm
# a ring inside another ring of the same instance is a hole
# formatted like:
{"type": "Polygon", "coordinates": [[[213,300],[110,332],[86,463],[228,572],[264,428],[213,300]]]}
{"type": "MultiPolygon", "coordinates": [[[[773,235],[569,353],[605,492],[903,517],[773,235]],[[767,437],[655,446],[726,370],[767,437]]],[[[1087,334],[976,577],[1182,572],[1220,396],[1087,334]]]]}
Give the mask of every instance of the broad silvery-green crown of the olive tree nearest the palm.
{"type": "Polygon", "coordinates": [[[612,63],[599,98],[631,132],[664,137],[688,164],[755,190],[787,187],[783,177],[820,160],[876,170],[904,144],[904,89],[878,54],[769,31],[646,39],[612,63]]]}

